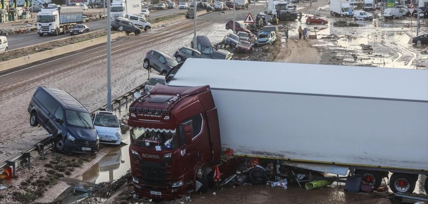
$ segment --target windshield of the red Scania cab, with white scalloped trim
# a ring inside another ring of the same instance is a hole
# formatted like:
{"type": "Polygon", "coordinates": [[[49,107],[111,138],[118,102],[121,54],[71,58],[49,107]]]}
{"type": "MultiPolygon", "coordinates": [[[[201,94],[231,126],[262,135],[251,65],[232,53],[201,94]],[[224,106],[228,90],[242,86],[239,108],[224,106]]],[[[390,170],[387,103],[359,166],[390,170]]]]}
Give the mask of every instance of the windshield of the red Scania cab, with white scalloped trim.
{"type": "Polygon", "coordinates": [[[137,144],[150,148],[177,148],[177,136],[175,131],[162,129],[145,129],[139,131],[139,128],[134,129],[135,141],[137,144]],[[162,131],[162,132],[161,132],[162,131]]]}

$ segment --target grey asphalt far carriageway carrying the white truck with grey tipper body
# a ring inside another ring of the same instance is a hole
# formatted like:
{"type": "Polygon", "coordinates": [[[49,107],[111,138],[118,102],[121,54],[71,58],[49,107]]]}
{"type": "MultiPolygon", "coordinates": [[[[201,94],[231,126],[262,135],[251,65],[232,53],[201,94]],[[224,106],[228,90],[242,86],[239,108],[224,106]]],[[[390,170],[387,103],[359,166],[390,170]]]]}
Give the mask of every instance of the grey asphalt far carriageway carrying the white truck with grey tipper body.
{"type": "MultiPolygon", "coordinates": [[[[150,11],[150,19],[154,20],[157,17],[170,15],[174,13],[183,12],[184,10],[176,9],[167,9],[164,11],[150,11]]],[[[102,20],[96,20],[96,21],[89,21],[85,22],[83,24],[88,25],[89,29],[91,31],[97,31],[102,30],[107,27],[107,21],[105,19],[102,20]]],[[[62,38],[69,37],[69,35],[59,35],[59,36],[39,36],[36,32],[30,32],[25,34],[19,34],[19,35],[12,35],[8,37],[9,42],[9,50],[16,49],[20,47],[30,46],[38,43],[48,42],[51,40],[58,40],[62,38]]]]}

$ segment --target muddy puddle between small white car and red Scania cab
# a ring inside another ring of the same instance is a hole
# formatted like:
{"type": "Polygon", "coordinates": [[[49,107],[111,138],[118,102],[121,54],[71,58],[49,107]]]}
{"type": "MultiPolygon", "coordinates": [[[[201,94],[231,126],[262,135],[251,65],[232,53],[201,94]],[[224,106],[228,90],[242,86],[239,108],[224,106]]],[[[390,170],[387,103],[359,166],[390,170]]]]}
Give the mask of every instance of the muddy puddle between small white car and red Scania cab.
{"type": "Polygon", "coordinates": [[[110,148],[111,151],[82,174],[83,181],[95,184],[111,182],[126,174],[126,171],[131,168],[129,164],[129,131],[122,137],[122,142],[126,145],[117,147],[105,145],[104,148],[110,148]]]}

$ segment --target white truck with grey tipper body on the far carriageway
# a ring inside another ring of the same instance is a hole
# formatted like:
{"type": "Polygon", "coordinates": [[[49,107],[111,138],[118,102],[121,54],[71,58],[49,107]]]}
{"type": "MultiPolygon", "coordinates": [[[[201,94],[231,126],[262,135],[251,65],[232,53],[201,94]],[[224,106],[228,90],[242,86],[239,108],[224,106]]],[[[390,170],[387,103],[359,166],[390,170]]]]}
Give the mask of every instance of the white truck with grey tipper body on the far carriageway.
{"type": "Polygon", "coordinates": [[[65,34],[83,22],[81,7],[47,7],[37,13],[37,34],[40,36],[65,34]]]}

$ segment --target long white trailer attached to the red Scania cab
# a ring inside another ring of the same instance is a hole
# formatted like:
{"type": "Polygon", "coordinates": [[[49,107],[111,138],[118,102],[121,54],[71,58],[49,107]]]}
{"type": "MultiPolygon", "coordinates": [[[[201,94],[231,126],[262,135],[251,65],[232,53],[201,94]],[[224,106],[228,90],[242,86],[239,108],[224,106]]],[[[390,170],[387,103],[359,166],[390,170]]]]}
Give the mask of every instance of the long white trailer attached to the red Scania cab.
{"type": "Polygon", "coordinates": [[[193,58],[177,67],[168,86],[209,85],[221,145],[238,156],[358,172],[375,187],[393,172],[394,192],[428,174],[428,70],[193,58]]]}

